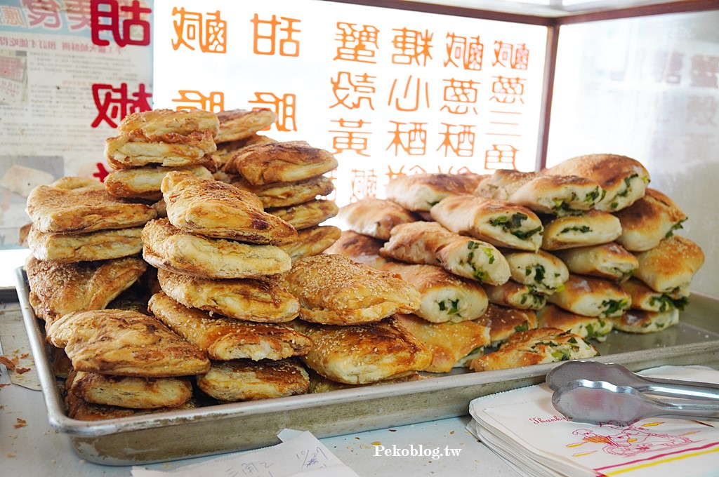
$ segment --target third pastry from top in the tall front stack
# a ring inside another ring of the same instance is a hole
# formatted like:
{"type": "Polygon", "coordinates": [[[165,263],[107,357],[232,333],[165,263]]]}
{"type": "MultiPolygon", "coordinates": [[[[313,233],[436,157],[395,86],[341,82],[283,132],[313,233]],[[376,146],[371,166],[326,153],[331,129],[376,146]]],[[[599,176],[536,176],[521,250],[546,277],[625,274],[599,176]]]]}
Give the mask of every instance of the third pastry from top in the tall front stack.
{"type": "Polygon", "coordinates": [[[186,307],[237,320],[283,323],[293,320],[300,304],[278,284],[265,279],[209,279],[157,270],[162,291],[186,307]]]}

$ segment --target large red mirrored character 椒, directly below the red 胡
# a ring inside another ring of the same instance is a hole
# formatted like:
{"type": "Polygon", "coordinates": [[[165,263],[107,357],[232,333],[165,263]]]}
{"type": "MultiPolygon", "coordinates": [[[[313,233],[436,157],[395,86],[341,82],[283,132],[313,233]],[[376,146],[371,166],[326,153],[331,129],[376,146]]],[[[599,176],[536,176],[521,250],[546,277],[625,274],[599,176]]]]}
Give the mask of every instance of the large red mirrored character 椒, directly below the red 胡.
{"type": "Polygon", "coordinates": [[[93,84],[92,96],[98,114],[91,126],[96,128],[102,121],[112,127],[117,127],[122,119],[130,113],[150,111],[152,107],[147,102],[152,93],[145,91],[145,85],[140,83],[136,93],[127,96],[127,83],[122,83],[119,88],[112,85],[93,84]]]}

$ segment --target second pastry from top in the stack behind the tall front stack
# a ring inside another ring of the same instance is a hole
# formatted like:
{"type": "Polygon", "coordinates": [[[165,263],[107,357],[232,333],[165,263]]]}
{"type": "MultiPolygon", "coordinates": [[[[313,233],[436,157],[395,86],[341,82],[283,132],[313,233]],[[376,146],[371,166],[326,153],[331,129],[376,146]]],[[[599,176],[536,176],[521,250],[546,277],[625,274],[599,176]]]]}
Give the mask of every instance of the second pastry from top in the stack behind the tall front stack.
{"type": "Polygon", "coordinates": [[[316,199],[318,195],[329,195],[334,190],[332,180],[324,175],[297,182],[273,182],[265,185],[252,185],[238,175],[232,177],[230,183],[257,195],[265,208],[306,203],[316,199]]]}

